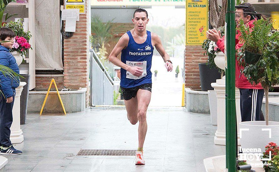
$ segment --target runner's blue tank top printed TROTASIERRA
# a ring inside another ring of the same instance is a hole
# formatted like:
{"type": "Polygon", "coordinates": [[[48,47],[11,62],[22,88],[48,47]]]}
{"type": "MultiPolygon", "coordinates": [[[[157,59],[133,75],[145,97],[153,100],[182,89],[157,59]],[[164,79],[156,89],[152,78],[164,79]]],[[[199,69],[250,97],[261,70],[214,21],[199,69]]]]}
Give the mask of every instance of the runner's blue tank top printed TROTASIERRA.
{"type": "Polygon", "coordinates": [[[153,46],[151,43],[151,32],[146,31],[147,38],[144,43],[136,43],[130,31],[127,32],[129,35],[128,46],[121,51],[121,61],[130,66],[139,66],[146,64],[146,73],[143,73],[143,76],[134,79],[133,75],[121,68],[120,73],[120,86],[124,88],[132,88],[145,83],[152,83],[151,77],[152,73],[151,62],[153,56],[153,46]],[[139,64],[139,65],[138,65],[139,64]]]}

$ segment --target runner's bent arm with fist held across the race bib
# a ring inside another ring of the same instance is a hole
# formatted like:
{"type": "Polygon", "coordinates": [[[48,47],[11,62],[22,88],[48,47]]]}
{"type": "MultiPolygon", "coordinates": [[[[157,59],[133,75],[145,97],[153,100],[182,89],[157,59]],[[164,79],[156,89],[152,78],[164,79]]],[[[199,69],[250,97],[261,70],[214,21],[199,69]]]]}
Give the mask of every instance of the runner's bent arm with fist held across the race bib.
{"type": "Polygon", "coordinates": [[[141,74],[143,73],[143,70],[141,70],[142,68],[140,67],[131,67],[125,63],[123,63],[120,59],[117,58],[117,56],[120,54],[120,52],[126,48],[128,46],[129,43],[129,36],[127,33],[125,33],[118,41],[118,43],[115,45],[115,47],[113,48],[112,52],[110,53],[110,55],[108,56],[108,60],[115,64],[116,66],[123,68],[127,71],[129,71],[130,73],[132,73],[134,76],[141,76],[141,74]]]}

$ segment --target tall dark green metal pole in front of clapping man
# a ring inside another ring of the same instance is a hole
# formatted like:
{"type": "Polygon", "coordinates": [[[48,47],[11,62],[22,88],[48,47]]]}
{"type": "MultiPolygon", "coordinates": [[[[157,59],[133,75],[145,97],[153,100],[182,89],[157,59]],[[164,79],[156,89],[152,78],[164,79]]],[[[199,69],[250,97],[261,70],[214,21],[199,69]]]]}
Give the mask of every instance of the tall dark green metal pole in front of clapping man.
{"type": "Polygon", "coordinates": [[[228,0],[228,9],[226,14],[227,33],[227,62],[228,70],[226,76],[226,89],[227,89],[227,106],[226,106],[226,126],[227,126],[227,145],[226,155],[228,171],[236,171],[236,110],[235,110],[235,10],[234,0],[228,0]]]}

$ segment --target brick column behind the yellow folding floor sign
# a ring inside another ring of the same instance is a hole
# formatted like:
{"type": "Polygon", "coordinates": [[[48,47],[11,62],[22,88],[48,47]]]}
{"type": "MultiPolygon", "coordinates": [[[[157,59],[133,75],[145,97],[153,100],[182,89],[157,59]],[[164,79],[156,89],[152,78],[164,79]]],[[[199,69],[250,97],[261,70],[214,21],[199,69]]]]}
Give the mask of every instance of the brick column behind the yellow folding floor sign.
{"type": "MultiPolygon", "coordinates": [[[[86,106],[89,105],[89,0],[86,0],[86,14],[80,14],[76,21],[76,32],[64,39],[64,85],[70,89],[86,87],[86,106]]],[[[64,24],[65,26],[65,24],[64,24]]]]}

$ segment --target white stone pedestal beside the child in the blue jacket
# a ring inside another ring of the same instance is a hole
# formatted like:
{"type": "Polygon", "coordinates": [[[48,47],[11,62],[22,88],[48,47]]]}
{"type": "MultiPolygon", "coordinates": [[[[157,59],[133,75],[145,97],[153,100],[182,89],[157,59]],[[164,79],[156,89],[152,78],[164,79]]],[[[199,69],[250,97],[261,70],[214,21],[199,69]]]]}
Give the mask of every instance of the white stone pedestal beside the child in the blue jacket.
{"type": "Polygon", "coordinates": [[[23,142],[22,130],[20,129],[20,95],[23,90],[23,86],[26,85],[25,82],[20,82],[19,87],[15,89],[15,98],[13,104],[13,123],[11,126],[11,142],[21,143],[23,142]]]}

